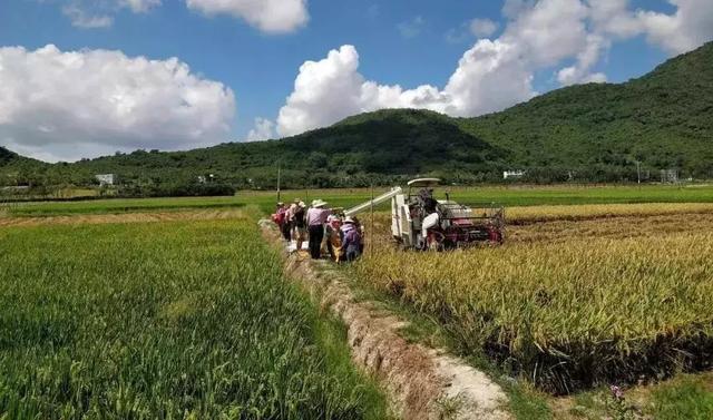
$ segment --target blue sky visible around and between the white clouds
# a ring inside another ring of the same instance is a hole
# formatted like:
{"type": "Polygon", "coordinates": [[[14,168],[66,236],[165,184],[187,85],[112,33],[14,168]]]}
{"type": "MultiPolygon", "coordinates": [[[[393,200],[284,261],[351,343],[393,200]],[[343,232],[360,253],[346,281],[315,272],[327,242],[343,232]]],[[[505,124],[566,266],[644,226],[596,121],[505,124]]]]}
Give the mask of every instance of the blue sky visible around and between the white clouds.
{"type": "MultiPolygon", "coordinates": [[[[458,68],[459,59],[478,41],[478,37],[468,28],[472,19],[487,19],[495,23],[497,29],[481,38],[496,40],[508,31],[509,25],[515,27],[512,22],[520,19],[520,16],[527,12],[527,8],[537,7],[537,2],[531,0],[511,1],[521,3],[520,9],[525,11],[520,11],[516,17],[506,18],[502,1],[311,0],[303,3],[309,13],[306,23],[274,33],[254,22],[248,23],[248,19],[240,14],[206,13],[195,8],[189,9],[184,1],[179,0],[164,0],[162,4],[153,4],[140,12],[128,6],[118,7],[110,3],[121,0],[101,1],[99,1],[100,7],[96,6],[96,1],[2,1],[0,3],[0,48],[23,47],[28,52],[32,52],[47,45],[55,45],[59,52],[105,49],[120,51],[128,58],[144,56],[149,59],[166,60],[176,57],[189,66],[192,75],[223,84],[234,95],[235,110],[226,118],[229,129],[224,140],[246,138],[257,117],[266,118],[275,125],[277,133],[271,128],[271,137],[277,137],[280,133],[294,134],[312,128],[309,125],[297,125],[280,130],[277,126],[282,123],[277,123],[276,119],[280,109],[290,105],[286,98],[295,90],[295,77],[300,66],[306,60],[325,59],[330,50],[345,45],[353,46],[359,55],[358,75],[380,86],[399,85],[403,89],[413,89],[421,85],[429,85],[443,89],[458,68]],[[81,8],[86,16],[108,16],[113,22],[99,28],[74,26],[71,17],[67,13],[68,4],[77,7],[78,10],[81,8]]],[[[240,2],[240,0],[236,1],[240,2]]],[[[563,4],[572,1],[579,3],[579,0],[551,1],[560,1],[563,4]]],[[[694,43],[702,43],[701,39],[710,39],[709,33],[701,36],[696,32],[691,36],[693,41],[682,40],[678,43],[683,47],[672,47],[666,45],[666,41],[657,42],[656,29],[648,28],[647,23],[644,25],[643,17],[639,19],[641,22],[639,20],[635,22],[635,13],[637,10],[645,10],[649,13],[675,17],[675,13],[680,12],[678,7],[663,0],[622,0],[619,2],[624,3],[622,10],[631,13],[631,20],[626,22],[627,28],[635,29],[598,30],[594,28],[597,23],[590,18],[577,18],[578,22],[583,22],[585,32],[605,33],[603,39],[607,43],[606,47],[598,49],[594,62],[586,65],[583,71],[587,75],[606,77],[606,80],[612,82],[625,81],[649,71],[666,58],[690,49],[694,43]],[[626,35],[623,35],[624,32],[626,35]]],[[[681,2],[685,0],[680,0],[681,2]]],[[[710,3],[713,2],[709,1],[710,3]]],[[[587,6],[587,2],[582,0],[582,4],[587,6]]],[[[543,31],[546,30],[547,28],[543,28],[543,31]]],[[[547,62],[521,65],[530,66],[526,70],[533,77],[528,86],[529,90],[544,92],[561,87],[558,71],[565,67],[575,66],[578,59],[577,52],[568,51],[547,62]]],[[[0,67],[0,80],[2,80],[1,75],[0,67]]],[[[586,81],[584,74],[576,82],[582,81],[586,81]]],[[[76,82],[81,84],[81,80],[76,82]]],[[[515,101],[518,98],[526,99],[527,95],[505,98],[501,104],[512,105],[508,99],[515,101]]],[[[0,91],[0,126],[2,126],[1,101],[0,91]]],[[[500,105],[500,101],[496,102],[500,105]]],[[[331,102],[328,100],[324,106],[329,107],[329,104],[331,102]]],[[[369,106],[354,105],[344,113],[370,110],[379,107],[378,104],[382,101],[369,106]]],[[[319,102],[312,105],[300,108],[299,113],[311,113],[320,106],[319,102]]],[[[501,108],[502,105],[499,107],[501,108]]],[[[296,107],[300,106],[296,104],[296,107]]],[[[481,114],[480,109],[497,110],[475,106],[457,109],[433,104],[424,107],[437,110],[442,108],[448,114],[455,115],[481,114]]],[[[339,113],[325,117],[310,115],[307,119],[314,121],[312,125],[326,125],[331,123],[329,118],[333,119],[338,116],[341,117],[339,113]]],[[[18,129],[7,131],[10,134],[6,133],[4,136],[11,138],[11,141],[4,143],[22,148],[22,140],[17,138],[18,129]]],[[[0,136],[2,135],[3,131],[0,130],[0,136]]],[[[165,136],[165,134],[158,135],[158,137],[165,136]]],[[[82,140],[82,143],[87,141],[91,140],[82,140]]],[[[167,143],[166,147],[162,147],[160,141],[160,138],[156,141],[147,141],[147,146],[166,149],[192,146],[191,141],[184,141],[177,145],[167,143]]],[[[0,144],[2,143],[0,137],[0,144]]],[[[215,143],[219,141],[211,138],[206,141],[197,141],[196,145],[215,143]]],[[[48,159],[77,157],[70,156],[71,154],[42,154],[39,152],[40,146],[46,145],[37,140],[23,152],[32,154],[35,148],[36,156],[48,159]]],[[[67,146],[62,145],[62,147],[67,146]]],[[[110,146],[117,146],[117,149],[123,148],[118,143],[110,146]]],[[[127,147],[133,146],[135,145],[127,145],[127,147]]],[[[104,153],[104,148],[92,150],[89,147],[84,155],[99,153],[104,153]]]]}

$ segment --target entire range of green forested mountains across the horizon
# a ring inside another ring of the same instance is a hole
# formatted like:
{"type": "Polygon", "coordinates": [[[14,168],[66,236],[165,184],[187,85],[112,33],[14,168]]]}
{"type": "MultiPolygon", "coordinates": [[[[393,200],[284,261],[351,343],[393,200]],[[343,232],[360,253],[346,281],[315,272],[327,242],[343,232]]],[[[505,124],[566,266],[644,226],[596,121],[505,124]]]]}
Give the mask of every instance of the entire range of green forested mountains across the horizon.
{"type": "MultiPolygon", "coordinates": [[[[0,149],[0,175],[17,159],[0,149]]],[[[94,174],[115,173],[134,186],[187,185],[213,174],[236,187],[266,188],[277,166],[286,187],[324,187],[416,175],[496,180],[505,169],[525,169],[529,180],[633,180],[636,162],[652,177],[677,168],[713,178],[713,42],[638,79],[573,86],[477,118],[380,110],[281,140],[19,166],[31,184],[87,184],[94,174]]]]}

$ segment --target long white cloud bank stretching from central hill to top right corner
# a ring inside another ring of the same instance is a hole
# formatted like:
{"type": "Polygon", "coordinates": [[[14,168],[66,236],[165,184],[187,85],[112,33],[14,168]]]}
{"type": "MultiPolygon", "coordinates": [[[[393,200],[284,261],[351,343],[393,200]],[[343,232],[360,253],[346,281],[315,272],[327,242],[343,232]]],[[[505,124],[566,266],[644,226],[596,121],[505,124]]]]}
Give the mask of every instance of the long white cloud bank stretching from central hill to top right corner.
{"type": "MultiPolygon", "coordinates": [[[[676,7],[673,14],[631,10],[628,0],[507,0],[502,13],[508,22],[501,36],[478,40],[442,89],[431,85],[404,89],[368,80],[359,72],[356,49],[342,46],[300,68],[294,91],[280,109],[276,130],[294,135],[380,108],[477,116],[531,98],[535,72],[567,60],[573,64],[555,72],[563,86],[606,81],[606,75],[594,69],[621,39],[644,35],[673,53],[713,38],[713,1],[670,2],[676,7]]],[[[497,30],[479,26],[476,32],[484,36],[497,30]]],[[[461,41],[461,35],[462,28],[451,30],[446,39],[461,41]]]]}

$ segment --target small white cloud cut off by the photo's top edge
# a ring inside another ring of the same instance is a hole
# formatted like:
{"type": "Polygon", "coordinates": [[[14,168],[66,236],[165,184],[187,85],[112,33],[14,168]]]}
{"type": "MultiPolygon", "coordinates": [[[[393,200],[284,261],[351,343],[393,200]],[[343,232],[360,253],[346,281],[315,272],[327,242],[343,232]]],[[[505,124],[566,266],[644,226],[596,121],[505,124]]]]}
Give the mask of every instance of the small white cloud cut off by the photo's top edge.
{"type": "Polygon", "coordinates": [[[186,6],[208,16],[231,14],[271,33],[292,32],[310,18],[306,0],[186,0],[186,6]]]}

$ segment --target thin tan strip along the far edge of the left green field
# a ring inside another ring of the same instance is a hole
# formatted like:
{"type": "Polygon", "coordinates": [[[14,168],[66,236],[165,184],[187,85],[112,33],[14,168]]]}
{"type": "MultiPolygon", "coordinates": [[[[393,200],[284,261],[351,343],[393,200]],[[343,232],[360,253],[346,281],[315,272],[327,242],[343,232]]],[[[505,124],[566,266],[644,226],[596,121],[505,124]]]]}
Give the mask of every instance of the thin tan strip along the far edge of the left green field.
{"type": "Polygon", "coordinates": [[[177,222],[177,221],[209,221],[241,217],[236,209],[204,209],[186,212],[156,213],[123,213],[123,214],[88,214],[76,216],[49,217],[2,217],[0,227],[11,226],[48,226],[74,224],[105,224],[105,223],[144,223],[144,222],[177,222]]]}

